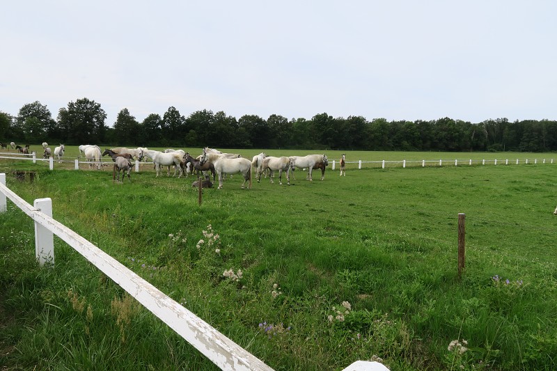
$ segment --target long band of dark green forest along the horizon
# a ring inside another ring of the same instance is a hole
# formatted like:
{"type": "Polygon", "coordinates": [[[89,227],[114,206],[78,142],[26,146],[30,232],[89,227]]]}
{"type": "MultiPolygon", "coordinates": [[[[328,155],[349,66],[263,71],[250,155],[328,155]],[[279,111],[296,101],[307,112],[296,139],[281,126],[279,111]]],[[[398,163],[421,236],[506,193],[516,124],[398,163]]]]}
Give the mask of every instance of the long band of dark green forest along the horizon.
{"type": "Polygon", "coordinates": [[[318,113],[311,119],[196,111],[182,116],[171,106],[162,116],[150,114],[139,123],[128,109],[118,113],[113,127],[100,104],[83,98],[58,111],[56,120],[40,102],[25,104],[15,117],[0,111],[0,142],[33,144],[47,141],[68,145],[105,144],[130,147],[311,148],[406,151],[557,150],[557,121],[506,118],[481,123],[438,120],[367,120],[362,116],[334,118],[318,113]]]}

